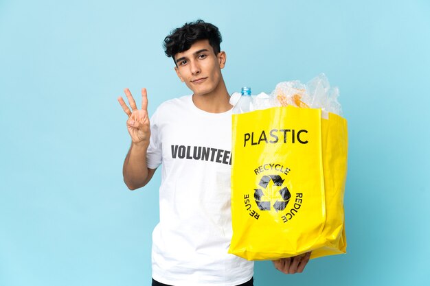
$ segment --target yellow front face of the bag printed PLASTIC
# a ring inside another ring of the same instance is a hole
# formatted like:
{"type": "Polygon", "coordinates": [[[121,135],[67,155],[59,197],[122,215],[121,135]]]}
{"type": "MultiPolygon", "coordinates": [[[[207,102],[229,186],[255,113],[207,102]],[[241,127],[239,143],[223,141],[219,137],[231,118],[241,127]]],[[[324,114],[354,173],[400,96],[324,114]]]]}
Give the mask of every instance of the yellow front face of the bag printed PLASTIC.
{"type": "Polygon", "coordinates": [[[230,253],[301,254],[326,220],[321,110],[292,106],[233,115],[230,253]]]}

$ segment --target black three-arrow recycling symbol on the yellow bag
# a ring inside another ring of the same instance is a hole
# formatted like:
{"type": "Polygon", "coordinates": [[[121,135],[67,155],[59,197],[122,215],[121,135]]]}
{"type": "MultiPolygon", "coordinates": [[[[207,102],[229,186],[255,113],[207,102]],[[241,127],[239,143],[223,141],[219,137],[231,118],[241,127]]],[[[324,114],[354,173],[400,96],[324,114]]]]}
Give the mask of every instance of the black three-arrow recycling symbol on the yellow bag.
{"type": "Polygon", "coordinates": [[[258,185],[261,189],[254,189],[254,200],[260,211],[270,211],[273,207],[276,212],[283,211],[288,204],[291,193],[283,187],[284,179],[279,175],[264,175],[258,185]]]}

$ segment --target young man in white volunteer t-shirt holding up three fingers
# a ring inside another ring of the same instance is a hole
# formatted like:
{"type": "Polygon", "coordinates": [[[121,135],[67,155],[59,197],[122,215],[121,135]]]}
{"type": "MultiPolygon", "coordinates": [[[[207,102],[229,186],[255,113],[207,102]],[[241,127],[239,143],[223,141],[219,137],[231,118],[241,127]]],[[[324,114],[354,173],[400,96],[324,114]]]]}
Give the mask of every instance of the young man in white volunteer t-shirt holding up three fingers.
{"type": "MultiPolygon", "coordinates": [[[[170,99],[148,118],[126,88],[131,147],[124,161],[129,189],[144,187],[162,167],[160,222],[152,233],[152,285],[253,285],[253,262],[228,254],[231,240],[231,109],[221,69],[218,28],[201,20],[165,38],[181,82],[192,95],[170,99]]],[[[273,261],[284,273],[302,272],[309,254],[273,261]]]]}

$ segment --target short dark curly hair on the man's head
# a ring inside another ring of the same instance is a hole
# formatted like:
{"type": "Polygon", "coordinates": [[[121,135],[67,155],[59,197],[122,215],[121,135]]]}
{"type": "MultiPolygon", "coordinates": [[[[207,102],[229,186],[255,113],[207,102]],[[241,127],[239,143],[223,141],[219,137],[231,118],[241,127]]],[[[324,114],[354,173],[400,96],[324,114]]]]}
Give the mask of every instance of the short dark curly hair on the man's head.
{"type": "Polygon", "coordinates": [[[221,50],[220,43],[223,41],[223,38],[218,27],[199,19],[195,22],[185,23],[182,27],[172,30],[164,38],[164,52],[166,56],[172,57],[174,61],[174,55],[190,49],[198,40],[209,40],[216,55],[221,50]]]}

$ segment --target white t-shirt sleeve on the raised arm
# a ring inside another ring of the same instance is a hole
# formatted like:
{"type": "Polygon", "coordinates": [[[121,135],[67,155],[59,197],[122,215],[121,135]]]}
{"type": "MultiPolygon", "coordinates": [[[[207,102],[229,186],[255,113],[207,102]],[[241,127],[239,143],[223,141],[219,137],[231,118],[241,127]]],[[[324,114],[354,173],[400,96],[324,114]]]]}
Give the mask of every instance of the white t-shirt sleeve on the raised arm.
{"type": "Polygon", "coordinates": [[[150,130],[151,136],[149,139],[148,151],[146,152],[146,165],[150,169],[157,169],[159,165],[162,163],[163,154],[161,152],[162,145],[160,140],[160,132],[159,132],[159,117],[158,117],[158,109],[154,112],[152,117],[150,118],[150,130]]]}

